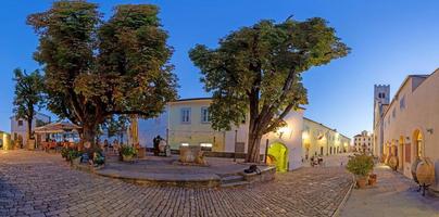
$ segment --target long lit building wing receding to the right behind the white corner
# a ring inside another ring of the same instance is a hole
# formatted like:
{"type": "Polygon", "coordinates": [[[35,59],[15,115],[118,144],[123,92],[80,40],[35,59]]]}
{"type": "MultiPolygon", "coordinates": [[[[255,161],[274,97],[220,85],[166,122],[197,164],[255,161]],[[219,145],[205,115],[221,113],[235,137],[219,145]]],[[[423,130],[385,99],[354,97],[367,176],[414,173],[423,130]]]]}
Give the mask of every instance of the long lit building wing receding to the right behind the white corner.
{"type": "Polygon", "coordinates": [[[311,156],[324,156],[349,151],[351,139],[339,133],[336,129],[321,123],[303,118],[302,132],[303,158],[311,156]]]}

